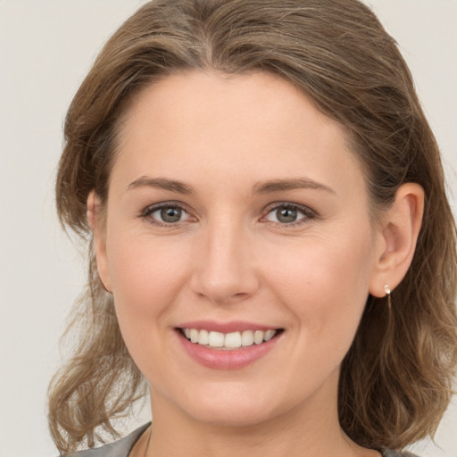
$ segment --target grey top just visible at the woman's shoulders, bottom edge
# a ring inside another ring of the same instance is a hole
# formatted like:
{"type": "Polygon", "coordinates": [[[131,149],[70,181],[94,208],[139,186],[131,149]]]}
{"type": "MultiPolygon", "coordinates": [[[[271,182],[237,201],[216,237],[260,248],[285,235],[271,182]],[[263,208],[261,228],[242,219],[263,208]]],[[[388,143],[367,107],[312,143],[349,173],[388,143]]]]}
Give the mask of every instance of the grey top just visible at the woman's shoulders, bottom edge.
{"type": "MultiPolygon", "coordinates": [[[[78,453],[67,453],[65,457],[129,457],[129,453],[132,450],[135,443],[137,443],[139,437],[143,434],[146,428],[151,424],[145,424],[144,426],[137,428],[135,431],[130,433],[128,436],[124,436],[114,443],[97,447],[96,449],[88,449],[87,451],[79,451],[78,453]]],[[[416,457],[412,453],[406,452],[395,452],[395,451],[384,451],[383,457],[416,457]]]]}

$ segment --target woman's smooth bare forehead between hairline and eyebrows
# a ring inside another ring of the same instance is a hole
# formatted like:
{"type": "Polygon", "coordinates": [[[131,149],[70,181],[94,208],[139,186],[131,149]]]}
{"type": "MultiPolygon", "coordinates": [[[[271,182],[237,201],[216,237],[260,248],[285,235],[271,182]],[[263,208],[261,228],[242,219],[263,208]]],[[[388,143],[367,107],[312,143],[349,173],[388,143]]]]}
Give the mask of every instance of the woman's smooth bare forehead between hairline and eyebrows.
{"type": "Polygon", "coordinates": [[[287,80],[262,72],[192,72],[146,87],[124,116],[118,151],[113,174],[122,170],[129,182],[236,173],[363,183],[345,129],[287,80]]]}

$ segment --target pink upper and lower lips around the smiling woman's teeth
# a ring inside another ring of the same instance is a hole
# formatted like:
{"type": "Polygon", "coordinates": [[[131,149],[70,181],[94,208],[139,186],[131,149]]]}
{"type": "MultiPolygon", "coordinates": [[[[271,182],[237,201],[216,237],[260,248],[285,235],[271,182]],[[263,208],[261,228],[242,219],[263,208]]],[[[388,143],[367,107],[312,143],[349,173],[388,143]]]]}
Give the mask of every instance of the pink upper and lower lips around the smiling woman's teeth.
{"type": "MultiPolygon", "coordinates": [[[[259,325],[249,324],[248,327],[244,325],[247,323],[244,322],[243,326],[239,326],[240,322],[231,322],[229,324],[219,324],[218,326],[212,327],[208,325],[208,322],[205,321],[201,326],[195,326],[197,322],[187,322],[183,327],[179,328],[196,328],[196,329],[209,329],[212,331],[222,331],[222,333],[229,333],[230,331],[243,331],[245,329],[250,330],[269,330],[274,329],[271,327],[263,327],[259,325]],[[188,326],[188,324],[191,324],[188,326]],[[235,327],[234,327],[235,325],[235,327]],[[188,326],[188,327],[187,327],[188,326]],[[223,330],[221,330],[223,328],[223,330]]],[[[240,349],[213,349],[206,347],[204,345],[198,345],[187,340],[186,337],[182,334],[181,330],[176,328],[175,334],[179,338],[179,342],[186,351],[187,355],[191,357],[194,361],[203,365],[206,368],[212,370],[240,370],[245,368],[248,365],[253,364],[255,361],[258,361],[273,349],[275,345],[282,339],[284,332],[280,332],[276,337],[262,343],[262,345],[251,345],[245,346],[240,349]]]]}

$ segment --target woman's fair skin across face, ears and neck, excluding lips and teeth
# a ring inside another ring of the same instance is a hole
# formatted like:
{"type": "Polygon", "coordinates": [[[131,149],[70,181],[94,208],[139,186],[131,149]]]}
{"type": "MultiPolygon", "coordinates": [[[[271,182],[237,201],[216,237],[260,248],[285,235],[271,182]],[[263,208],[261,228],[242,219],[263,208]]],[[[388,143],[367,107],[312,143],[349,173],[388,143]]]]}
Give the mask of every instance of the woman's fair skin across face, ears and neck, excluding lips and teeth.
{"type": "Polygon", "coordinates": [[[107,207],[91,193],[87,214],[100,277],[150,383],[154,433],[131,455],[379,455],[339,427],[338,373],[368,295],[394,289],[411,263],[421,188],[401,187],[375,224],[344,128],[264,73],[148,87],[125,114],[118,151],[107,207]],[[260,191],[290,179],[293,188],[260,191]],[[167,203],[181,220],[146,212],[167,203]],[[300,207],[295,222],[278,220],[281,204],[300,207]],[[245,368],[213,370],[175,329],[209,319],[284,331],[245,368]]]}

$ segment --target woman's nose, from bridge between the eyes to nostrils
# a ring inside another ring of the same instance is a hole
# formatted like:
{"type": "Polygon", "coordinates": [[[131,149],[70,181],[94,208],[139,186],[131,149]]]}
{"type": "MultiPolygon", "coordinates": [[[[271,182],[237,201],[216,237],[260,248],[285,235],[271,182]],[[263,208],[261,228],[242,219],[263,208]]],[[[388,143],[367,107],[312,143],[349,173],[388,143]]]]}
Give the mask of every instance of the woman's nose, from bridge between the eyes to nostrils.
{"type": "Polygon", "coordinates": [[[195,294],[218,304],[239,303],[255,294],[259,278],[246,231],[231,222],[215,222],[204,230],[195,245],[195,294]]]}

